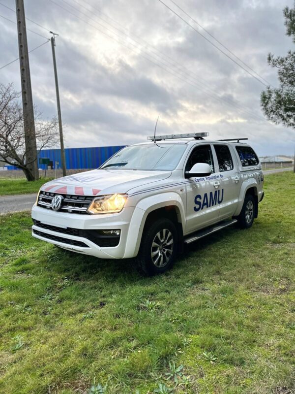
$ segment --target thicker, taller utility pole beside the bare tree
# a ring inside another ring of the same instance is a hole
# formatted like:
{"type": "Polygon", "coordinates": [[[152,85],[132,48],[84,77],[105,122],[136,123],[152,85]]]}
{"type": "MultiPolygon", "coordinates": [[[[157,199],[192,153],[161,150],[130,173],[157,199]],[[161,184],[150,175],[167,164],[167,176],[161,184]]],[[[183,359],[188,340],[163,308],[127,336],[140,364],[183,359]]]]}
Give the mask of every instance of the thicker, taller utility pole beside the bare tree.
{"type": "Polygon", "coordinates": [[[15,0],[15,5],[21,68],[26,162],[29,169],[27,179],[33,181],[39,179],[39,171],[24,0],[15,0]]]}

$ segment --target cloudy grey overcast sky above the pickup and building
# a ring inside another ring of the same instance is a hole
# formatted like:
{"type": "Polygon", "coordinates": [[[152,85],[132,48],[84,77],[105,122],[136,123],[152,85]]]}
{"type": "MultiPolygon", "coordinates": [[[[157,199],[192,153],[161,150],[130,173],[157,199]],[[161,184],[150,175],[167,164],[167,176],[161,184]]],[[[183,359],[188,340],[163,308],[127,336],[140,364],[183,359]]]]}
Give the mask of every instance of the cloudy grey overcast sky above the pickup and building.
{"type": "MultiPolygon", "coordinates": [[[[0,2],[15,9],[14,0],[0,2]]],[[[233,57],[172,1],[163,2],[233,57]]],[[[277,86],[266,58],[269,52],[285,55],[294,49],[282,14],[293,0],[174,2],[277,86]]],[[[262,113],[264,85],[159,0],[25,0],[25,7],[27,18],[59,33],[66,147],[143,142],[159,116],[158,134],[209,131],[211,138],[248,137],[260,156],[294,154],[295,131],[271,124],[262,113]]],[[[0,15],[16,20],[3,5],[0,15]]],[[[50,36],[29,20],[27,29],[50,36]]],[[[45,41],[28,32],[29,50],[45,41]]],[[[0,18],[0,67],[17,57],[16,24],[0,18]]],[[[29,61],[34,104],[51,118],[57,109],[50,43],[33,51],[29,61]]],[[[0,82],[13,82],[20,90],[18,62],[0,70],[0,82]]]]}

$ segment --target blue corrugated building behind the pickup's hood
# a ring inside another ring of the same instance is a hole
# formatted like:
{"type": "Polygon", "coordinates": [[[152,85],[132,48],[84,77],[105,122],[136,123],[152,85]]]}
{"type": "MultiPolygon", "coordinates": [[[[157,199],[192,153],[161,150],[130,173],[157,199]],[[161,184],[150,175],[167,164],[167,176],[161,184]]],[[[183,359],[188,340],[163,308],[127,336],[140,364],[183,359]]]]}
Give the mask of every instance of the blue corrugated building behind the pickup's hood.
{"type": "MultiPolygon", "coordinates": [[[[65,151],[65,162],[67,169],[89,169],[97,168],[103,164],[107,159],[113,156],[123,146],[99,146],[94,148],[66,148],[65,151]]],[[[44,149],[39,155],[39,158],[49,158],[55,163],[59,162],[58,168],[61,168],[61,157],[60,149],[44,149]]],[[[45,164],[38,164],[39,168],[44,169],[45,164]]],[[[7,165],[8,169],[18,169],[13,165],[7,165]]]]}

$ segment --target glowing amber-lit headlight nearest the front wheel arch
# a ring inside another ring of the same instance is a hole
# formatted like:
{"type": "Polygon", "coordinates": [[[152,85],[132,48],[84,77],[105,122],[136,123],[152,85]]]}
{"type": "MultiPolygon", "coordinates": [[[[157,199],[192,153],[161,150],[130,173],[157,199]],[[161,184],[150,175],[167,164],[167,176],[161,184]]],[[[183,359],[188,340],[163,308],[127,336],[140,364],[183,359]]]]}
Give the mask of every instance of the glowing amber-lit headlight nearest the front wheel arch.
{"type": "Polygon", "coordinates": [[[100,196],[94,198],[91,202],[88,212],[94,213],[116,213],[123,209],[128,195],[126,194],[113,194],[109,196],[100,196]]]}

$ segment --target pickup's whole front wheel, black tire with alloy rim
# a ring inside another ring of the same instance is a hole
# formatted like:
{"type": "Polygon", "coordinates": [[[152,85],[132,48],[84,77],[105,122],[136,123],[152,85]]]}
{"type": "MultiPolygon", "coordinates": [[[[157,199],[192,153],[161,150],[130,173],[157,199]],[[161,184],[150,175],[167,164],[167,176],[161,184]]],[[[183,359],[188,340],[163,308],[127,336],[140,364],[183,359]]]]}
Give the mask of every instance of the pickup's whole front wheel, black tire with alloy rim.
{"type": "Polygon", "coordinates": [[[172,267],[177,255],[177,230],[169,219],[158,219],[144,230],[137,263],[146,275],[156,275],[172,267]]]}

